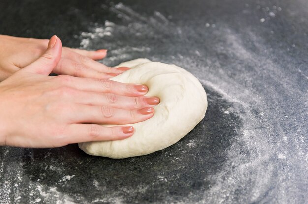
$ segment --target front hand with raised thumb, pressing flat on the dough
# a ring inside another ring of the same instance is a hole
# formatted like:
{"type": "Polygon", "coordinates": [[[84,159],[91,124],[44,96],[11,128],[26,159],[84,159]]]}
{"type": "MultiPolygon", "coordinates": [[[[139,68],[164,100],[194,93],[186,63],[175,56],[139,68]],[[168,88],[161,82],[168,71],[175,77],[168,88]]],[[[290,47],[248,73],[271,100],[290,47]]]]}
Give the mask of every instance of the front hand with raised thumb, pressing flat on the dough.
{"type": "Polygon", "coordinates": [[[35,62],[0,83],[0,144],[59,147],[70,143],[118,140],[131,136],[129,124],[149,119],[156,97],[144,85],[108,79],[48,76],[61,58],[53,36],[35,62]]]}

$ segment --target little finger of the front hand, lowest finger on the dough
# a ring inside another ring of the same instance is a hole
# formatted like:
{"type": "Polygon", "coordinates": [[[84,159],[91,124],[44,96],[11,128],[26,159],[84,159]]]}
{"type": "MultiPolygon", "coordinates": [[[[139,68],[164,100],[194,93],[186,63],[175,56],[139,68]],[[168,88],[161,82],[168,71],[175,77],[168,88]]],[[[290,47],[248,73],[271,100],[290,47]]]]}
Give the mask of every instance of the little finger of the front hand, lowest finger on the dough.
{"type": "Polygon", "coordinates": [[[132,126],[104,127],[96,124],[71,124],[66,129],[66,143],[121,140],[132,136],[132,126]]]}

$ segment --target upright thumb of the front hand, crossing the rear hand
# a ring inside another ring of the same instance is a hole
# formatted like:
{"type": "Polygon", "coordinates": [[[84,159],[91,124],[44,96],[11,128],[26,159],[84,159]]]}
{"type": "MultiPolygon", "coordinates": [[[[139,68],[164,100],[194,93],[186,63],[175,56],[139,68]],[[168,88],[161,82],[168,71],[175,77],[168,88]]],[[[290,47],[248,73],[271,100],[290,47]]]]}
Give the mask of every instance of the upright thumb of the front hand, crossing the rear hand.
{"type": "Polygon", "coordinates": [[[56,36],[49,40],[46,52],[36,61],[22,68],[21,71],[48,75],[58,64],[61,58],[62,43],[56,36]]]}

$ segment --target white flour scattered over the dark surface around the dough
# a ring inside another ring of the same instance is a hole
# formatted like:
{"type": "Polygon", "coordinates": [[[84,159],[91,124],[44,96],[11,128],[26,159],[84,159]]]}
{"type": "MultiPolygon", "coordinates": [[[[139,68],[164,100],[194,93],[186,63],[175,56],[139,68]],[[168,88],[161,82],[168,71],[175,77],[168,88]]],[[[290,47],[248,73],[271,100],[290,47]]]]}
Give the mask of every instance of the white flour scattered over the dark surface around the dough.
{"type": "MultiPolygon", "coordinates": [[[[243,13],[252,6],[245,4],[243,13]]],[[[257,6],[255,9],[264,11],[264,16],[252,22],[264,25],[277,18],[283,8],[272,5],[257,6]]],[[[296,108],[303,111],[301,118],[308,119],[308,90],[302,90],[297,83],[298,77],[307,80],[306,73],[298,69],[296,74],[289,74],[277,62],[273,48],[269,47],[262,37],[256,36],[247,28],[239,34],[223,21],[210,19],[200,22],[199,27],[190,26],[185,22],[173,23],[172,16],[164,16],[158,11],[146,16],[135,12],[122,3],[111,6],[110,12],[116,14],[120,22],[106,20],[104,24],[94,23],[88,31],[81,32],[80,48],[109,49],[108,57],[102,62],[114,66],[120,62],[149,58],[152,61],[177,64],[187,68],[194,74],[208,90],[212,90],[230,103],[232,107],[221,110],[227,116],[238,115],[243,126],[236,130],[238,135],[230,147],[225,149],[227,160],[215,173],[204,179],[213,183],[203,192],[195,192],[187,197],[165,198],[166,203],[301,203],[308,200],[307,186],[301,186],[300,181],[308,177],[308,127],[297,122],[294,115],[296,108]],[[193,39],[204,41],[195,42],[193,39]],[[125,37],[125,40],[121,39],[125,37]],[[214,44],[211,41],[219,42],[214,44]],[[247,40],[249,39],[249,40],[247,40]],[[160,43],[156,43],[159,41],[160,43]],[[249,41],[255,50],[251,50],[246,43],[249,41]],[[227,45],[227,46],[226,46],[227,45]],[[193,47],[193,50],[190,48],[193,47]],[[169,53],[166,55],[166,53],[169,53]],[[232,63],[221,64],[232,58],[232,63]],[[263,83],[264,82],[264,83],[263,83]],[[265,83],[266,82],[266,83],[265,83]],[[260,92],[259,90],[262,90],[260,92]],[[292,93],[290,93],[292,90],[292,93]],[[280,94],[277,94],[280,93],[280,94]],[[293,96],[298,96],[293,98],[293,96]],[[289,109],[286,99],[292,99],[294,109],[289,109]],[[284,149],[284,151],[281,151],[284,149]],[[244,152],[244,153],[243,153],[244,152]],[[281,171],[283,169],[283,171],[281,171]],[[298,198],[289,189],[296,189],[305,198],[298,198]],[[306,192],[305,192],[306,191],[306,192]],[[240,193],[239,193],[240,192],[240,193]],[[200,199],[201,198],[201,199],[200,199]],[[247,198],[249,200],[247,200],[247,198]]],[[[269,32],[273,34],[274,32],[269,32]]],[[[296,46],[290,45],[291,52],[296,46]]],[[[278,51],[277,51],[278,52],[278,51]]],[[[285,66],[294,66],[289,63],[285,66]]],[[[304,67],[305,68],[305,67],[304,67]]],[[[297,68],[296,68],[297,70],[297,68]]],[[[307,121],[307,120],[306,120],[307,121]]],[[[230,121],[231,125],[232,121],[230,121]]],[[[191,140],[187,148],[198,145],[191,140]]],[[[4,155],[11,153],[10,148],[4,148],[4,155]]],[[[23,153],[16,153],[21,158],[23,153]]],[[[18,203],[21,184],[29,183],[29,198],[31,203],[50,202],[66,203],[125,203],[123,192],[139,195],[147,191],[148,186],[137,186],[133,189],[119,187],[104,198],[92,198],[92,202],[82,195],[72,196],[62,193],[56,186],[68,185],[76,177],[73,174],[62,175],[58,183],[51,186],[33,182],[23,177],[22,160],[2,160],[0,178],[8,176],[0,189],[0,203],[18,203]],[[3,164],[9,164],[8,167],[3,164]],[[17,177],[14,177],[18,175],[17,177]]],[[[58,165],[46,166],[61,173],[58,165]]],[[[157,177],[165,181],[165,177],[157,177]]],[[[167,181],[167,180],[166,180],[167,181]]],[[[103,192],[106,186],[98,181],[93,184],[97,191],[103,192]]]]}

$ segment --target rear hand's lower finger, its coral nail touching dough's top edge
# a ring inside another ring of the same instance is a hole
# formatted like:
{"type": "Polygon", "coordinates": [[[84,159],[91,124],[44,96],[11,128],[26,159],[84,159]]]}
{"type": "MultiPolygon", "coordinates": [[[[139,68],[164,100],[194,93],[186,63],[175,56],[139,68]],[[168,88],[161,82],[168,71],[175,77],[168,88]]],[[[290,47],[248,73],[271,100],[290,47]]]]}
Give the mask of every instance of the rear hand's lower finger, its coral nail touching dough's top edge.
{"type": "Polygon", "coordinates": [[[92,68],[96,71],[100,71],[100,72],[106,72],[106,73],[115,73],[115,74],[120,74],[120,73],[123,73],[124,71],[127,71],[128,69],[130,68],[127,68],[127,67],[120,67],[120,68],[111,68],[111,67],[108,67],[102,63],[99,63],[95,60],[92,60],[91,58],[89,57],[86,57],[84,55],[80,55],[78,53],[70,53],[67,55],[67,58],[75,61],[75,62],[78,62],[80,64],[83,64],[89,68],[92,68]]]}

